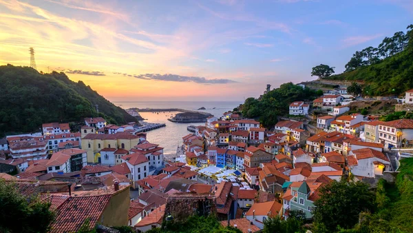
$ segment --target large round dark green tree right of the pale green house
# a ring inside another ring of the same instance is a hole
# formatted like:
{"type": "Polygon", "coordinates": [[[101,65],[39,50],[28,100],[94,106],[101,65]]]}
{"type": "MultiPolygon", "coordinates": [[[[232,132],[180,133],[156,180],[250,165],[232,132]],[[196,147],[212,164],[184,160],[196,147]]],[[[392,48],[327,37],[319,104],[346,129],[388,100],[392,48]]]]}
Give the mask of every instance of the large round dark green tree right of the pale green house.
{"type": "Polygon", "coordinates": [[[320,198],[315,201],[315,225],[334,232],[337,226],[348,229],[359,220],[363,211],[374,210],[374,192],[361,181],[332,181],[320,188],[320,198]]]}

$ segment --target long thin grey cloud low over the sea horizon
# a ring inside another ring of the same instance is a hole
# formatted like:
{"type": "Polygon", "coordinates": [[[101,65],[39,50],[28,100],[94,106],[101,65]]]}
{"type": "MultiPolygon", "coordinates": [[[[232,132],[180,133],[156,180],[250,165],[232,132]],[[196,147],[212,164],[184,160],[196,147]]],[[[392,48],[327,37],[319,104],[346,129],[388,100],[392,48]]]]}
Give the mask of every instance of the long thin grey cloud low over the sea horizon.
{"type": "Polygon", "coordinates": [[[134,77],[137,79],[173,82],[193,82],[207,84],[236,83],[236,81],[233,81],[231,79],[205,79],[204,77],[189,77],[178,74],[139,74],[134,75],[134,77]]]}

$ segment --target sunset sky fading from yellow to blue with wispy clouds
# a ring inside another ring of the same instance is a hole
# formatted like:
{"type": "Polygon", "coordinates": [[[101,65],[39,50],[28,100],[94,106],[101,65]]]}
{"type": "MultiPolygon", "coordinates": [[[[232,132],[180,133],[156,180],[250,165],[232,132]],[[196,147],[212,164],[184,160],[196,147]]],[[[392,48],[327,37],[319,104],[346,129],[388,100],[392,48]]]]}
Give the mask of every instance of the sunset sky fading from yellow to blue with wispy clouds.
{"type": "Polygon", "coordinates": [[[0,65],[33,47],[109,101],[243,101],[411,23],[412,0],[0,0],[0,65]]]}

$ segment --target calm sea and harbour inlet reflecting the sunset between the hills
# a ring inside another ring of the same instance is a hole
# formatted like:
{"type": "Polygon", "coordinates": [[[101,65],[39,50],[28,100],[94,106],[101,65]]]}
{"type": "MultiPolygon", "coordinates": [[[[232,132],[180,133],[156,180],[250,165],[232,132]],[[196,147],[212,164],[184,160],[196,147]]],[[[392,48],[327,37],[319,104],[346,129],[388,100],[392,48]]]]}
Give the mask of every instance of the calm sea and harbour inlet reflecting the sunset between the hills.
{"type": "MultiPolygon", "coordinates": [[[[224,112],[233,110],[241,101],[114,101],[115,105],[123,109],[128,108],[182,108],[209,112],[215,117],[221,117],[224,112]]],[[[167,119],[179,112],[140,112],[140,116],[148,123],[165,123],[167,126],[147,132],[147,141],[159,144],[164,148],[164,154],[176,154],[178,146],[182,145],[182,136],[191,132],[189,125],[204,125],[205,123],[174,123],[167,119]]]]}

